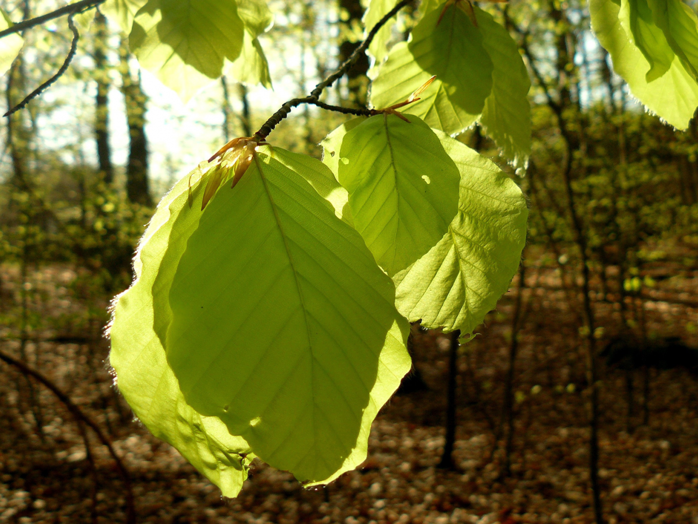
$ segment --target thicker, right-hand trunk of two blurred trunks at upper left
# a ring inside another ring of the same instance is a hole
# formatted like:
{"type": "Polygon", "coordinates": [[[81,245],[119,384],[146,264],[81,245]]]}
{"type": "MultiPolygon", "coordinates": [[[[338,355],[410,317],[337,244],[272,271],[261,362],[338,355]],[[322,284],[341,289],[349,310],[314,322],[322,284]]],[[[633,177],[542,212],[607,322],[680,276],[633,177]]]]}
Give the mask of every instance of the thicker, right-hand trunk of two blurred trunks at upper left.
{"type": "Polygon", "coordinates": [[[126,100],[128,120],[128,166],[126,166],[126,195],[132,203],[152,205],[148,184],[148,140],[145,134],[147,97],[140,86],[140,75],[131,74],[128,64],[128,41],[121,41],[121,90],[126,100]]]}

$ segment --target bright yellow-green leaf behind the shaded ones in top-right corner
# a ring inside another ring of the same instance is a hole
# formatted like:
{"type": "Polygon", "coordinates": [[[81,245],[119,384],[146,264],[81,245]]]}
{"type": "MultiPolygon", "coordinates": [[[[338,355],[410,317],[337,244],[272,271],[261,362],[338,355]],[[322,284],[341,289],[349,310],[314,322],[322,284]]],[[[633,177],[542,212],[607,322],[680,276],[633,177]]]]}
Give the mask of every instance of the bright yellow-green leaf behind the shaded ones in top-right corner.
{"type": "Polygon", "coordinates": [[[647,82],[647,59],[634,45],[618,19],[621,8],[613,0],[590,0],[591,24],[603,47],[611,54],[614,71],[621,75],[633,96],[678,129],[686,129],[698,107],[698,84],[681,61],[671,62],[669,71],[647,82]]]}

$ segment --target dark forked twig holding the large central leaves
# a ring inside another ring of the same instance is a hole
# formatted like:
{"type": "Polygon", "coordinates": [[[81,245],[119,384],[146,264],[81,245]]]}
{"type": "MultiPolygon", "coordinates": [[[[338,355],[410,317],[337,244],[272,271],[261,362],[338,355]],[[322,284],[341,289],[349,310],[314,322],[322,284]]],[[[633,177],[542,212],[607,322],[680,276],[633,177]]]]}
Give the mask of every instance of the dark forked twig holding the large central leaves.
{"type": "MultiPolygon", "coordinates": [[[[352,64],[357,61],[359,56],[361,56],[362,52],[366,51],[366,49],[369,48],[369,45],[371,45],[371,42],[373,41],[373,38],[376,36],[378,33],[378,30],[383,27],[388,20],[390,20],[392,17],[394,17],[399,10],[401,10],[403,7],[407,6],[412,0],[402,0],[399,3],[396,4],[394,8],[388,11],[388,13],[378,20],[378,23],[373,26],[373,29],[369,31],[369,34],[366,35],[366,38],[364,41],[359,45],[358,48],[350,54],[349,58],[344,61],[344,63],[339,66],[339,68],[334,71],[331,75],[329,75],[325,80],[322,80],[318,85],[315,86],[315,89],[311,91],[311,94],[309,96],[305,96],[302,99],[292,99],[289,100],[288,102],[285,102],[281,108],[279,108],[278,111],[270,117],[267,122],[264,123],[262,127],[260,127],[260,130],[255,133],[255,138],[258,140],[264,140],[269,136],[269,133],[271,133],[274,128],[279,125],[279,122],[283,120],[285,117],[288,117],[288,114],[291,112],[293,108],[295,108],[297,105],[301,105],[302,103],[311,103],[313,105],[318,105],[318,107],[323,107],[323,105],[320,105],[319,99],[320,95],[322,94],[322,91],[325,90],[326,87],[331,86],[334,84],[334,81],[341,78],[344,73],[348,71],[348,69],[352,66],[352,64]]],[[[348,110],[347,108],[338,108],[337,106],[331,106],[324,104],[325,109],[331,109],[333,111],[338,111],[339,112],[344,112],[350,115],[371,115],[373,113],[369,112],[370,110],[348,110]],[[357,111],[361,111],[360,113],[357,111]]]]}

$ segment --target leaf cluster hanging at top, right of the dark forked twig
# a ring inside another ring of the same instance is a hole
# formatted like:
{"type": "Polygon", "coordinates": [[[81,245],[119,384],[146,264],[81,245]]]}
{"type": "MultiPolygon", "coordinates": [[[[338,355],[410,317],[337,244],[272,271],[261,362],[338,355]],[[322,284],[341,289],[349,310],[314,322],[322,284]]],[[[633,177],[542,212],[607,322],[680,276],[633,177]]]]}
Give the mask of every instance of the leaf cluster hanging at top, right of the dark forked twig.
{"type": "Polygon", "coordinates": [[[412,39],[396,45],[378,71],[371,103],[392,105],[436,74],[436,88],[405,111],[451,135],[479,120],[504,156],[515,167],[525,166],[530,154],[530,80],[519,47],[489,13],[473,7],[468,15],[461,5],[470,4],[431,1],[420,7],[424,16],[412,39]]]}

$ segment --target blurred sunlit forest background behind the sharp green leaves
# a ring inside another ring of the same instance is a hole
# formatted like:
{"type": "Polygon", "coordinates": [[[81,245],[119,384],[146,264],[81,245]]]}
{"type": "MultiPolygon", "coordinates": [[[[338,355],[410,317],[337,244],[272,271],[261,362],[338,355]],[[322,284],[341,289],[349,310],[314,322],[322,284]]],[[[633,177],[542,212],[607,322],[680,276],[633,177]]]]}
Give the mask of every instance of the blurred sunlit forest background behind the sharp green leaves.
{"type": "MultiPolygon", "coordinates": [[[[519,276],[475,340],[413,326],[413,373],[378,416],[369,459],[327,488],[256,463],[240,497],[133,420],[108,367],[112,297],[159,198],[196,163],[309,91],[362,38],[359,0],[270,0],[274,90],[223,78],[186,105],[139,71],[99,14],[73,65],[5,119],[0,153],[0,523],[112,523],[131,493],[152,523],[589,523],[586,349],[600,358],[600,483],[609,523],[698,524],[698,124],[647,115],[614,75],[581,0],[481,3],[519,42],[533,154],[512,172],[477,126],[459,137],[528,196],[519,276]],[[593,319],[584,325],[585,310],[593,319]],[[452,386],[449,389],[449,384],[452,386]],[[449,395],[449,391],[451,395],[449,395]],[[450,402],[449,402],[450,400],[450,402]],[[452,429],[454,439],[447,439],[452,429]],[[87,446],[86,446],[87,443],[87,446]]],[[[59,7],[2,1],[15,22],[59,7]]],[[[419,2],[393,30],[401,41],[419,2]]],[[[65,20],[24,34],[10,107],[59,68],[65,20]]],[[[330,92],[366,103],[368,59],[330,92]]],[[[321,156],[341,115],[298,108],[272,138],[321,156]]]]}

